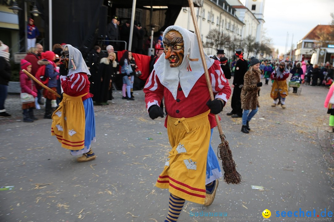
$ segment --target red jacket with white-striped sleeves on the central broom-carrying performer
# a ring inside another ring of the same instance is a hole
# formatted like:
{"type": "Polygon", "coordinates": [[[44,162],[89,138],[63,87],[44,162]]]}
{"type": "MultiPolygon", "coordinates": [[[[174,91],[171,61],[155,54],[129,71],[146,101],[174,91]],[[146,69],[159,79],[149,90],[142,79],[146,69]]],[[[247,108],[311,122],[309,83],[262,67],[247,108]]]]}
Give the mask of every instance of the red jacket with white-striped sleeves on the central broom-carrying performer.
{"type": "MultiPolygon", "coordinates": [[[[231,88],[217,60],[208,69],[208,72],[215,98],[222,99],[225,101],[226,105],[226,102],[231,95],[231,88]]],[[[210,100],[210,95],[204,74],[197,80],[187,98],[182,92],[182,88],[179,84],[177,97],[176,100],[174,100],[171,92],[160,83],[159,78],[153,70],[146,82],[144,93],[147,109],[152,105],[160,106],[161,100],[164,97],[166,111],[168,115],[174,118],[190,118],[209,110],[209,107],[206,106],[206,102],[210,100]]],[[[209,113],[208,118],[211,128],[215,127],[217,124],[214,114],[209,113]]],[[[167,117],[165,119],[165,126],[167,126],[166,122],[167,117]]]]}

